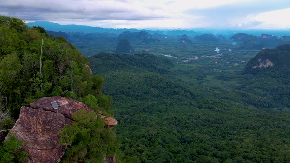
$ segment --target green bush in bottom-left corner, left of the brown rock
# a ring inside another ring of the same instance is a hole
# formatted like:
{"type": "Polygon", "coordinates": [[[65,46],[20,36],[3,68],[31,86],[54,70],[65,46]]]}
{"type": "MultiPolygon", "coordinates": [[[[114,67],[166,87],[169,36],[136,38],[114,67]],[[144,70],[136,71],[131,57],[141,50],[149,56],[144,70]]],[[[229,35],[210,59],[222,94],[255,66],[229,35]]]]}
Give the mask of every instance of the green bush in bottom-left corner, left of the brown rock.
{"type": "Polygon", "coordinates": [[[21,150],[22,142],[18,141],[12,133],[8,134],[7,140],[0,147],[1,163],[19,163],[23,162],[28,154],[21,150]]]}

